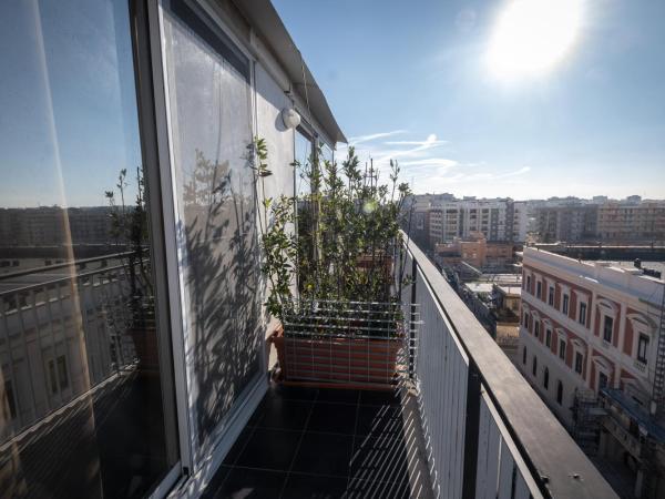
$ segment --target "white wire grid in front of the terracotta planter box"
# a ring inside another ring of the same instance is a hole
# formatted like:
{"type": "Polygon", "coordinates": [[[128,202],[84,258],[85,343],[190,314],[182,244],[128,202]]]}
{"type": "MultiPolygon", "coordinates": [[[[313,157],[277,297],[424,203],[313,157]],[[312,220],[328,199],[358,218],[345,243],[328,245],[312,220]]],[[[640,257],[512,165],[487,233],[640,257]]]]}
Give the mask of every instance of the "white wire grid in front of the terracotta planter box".
{"type": "Polygon", "coordinates": [[[395,388],[412,375],[419,323],[397,302],[294,303],[283,320],[285,378],[395,388]]]}

